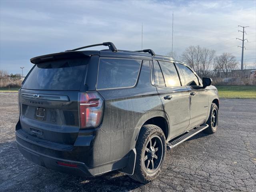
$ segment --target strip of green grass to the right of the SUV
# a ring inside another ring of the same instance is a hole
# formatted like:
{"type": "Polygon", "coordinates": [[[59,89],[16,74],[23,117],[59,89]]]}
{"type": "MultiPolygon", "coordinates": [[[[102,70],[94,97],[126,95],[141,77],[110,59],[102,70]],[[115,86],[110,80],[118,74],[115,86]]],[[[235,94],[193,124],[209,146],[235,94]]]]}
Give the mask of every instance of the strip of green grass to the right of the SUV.
{"type": "Polygon", "coordinates": [[[256,86],[216,86],[220,98],[256,99],[256,86]]]}

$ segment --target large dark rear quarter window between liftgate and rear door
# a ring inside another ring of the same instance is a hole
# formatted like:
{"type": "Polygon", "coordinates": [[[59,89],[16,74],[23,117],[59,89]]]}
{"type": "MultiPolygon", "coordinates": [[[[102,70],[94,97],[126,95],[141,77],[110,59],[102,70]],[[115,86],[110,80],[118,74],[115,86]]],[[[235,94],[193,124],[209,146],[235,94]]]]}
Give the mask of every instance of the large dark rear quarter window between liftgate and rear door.
{"type": "Polygon", "coordinates": [[[134,86],[140,65],[141,60],[100,59],[97,89],[134,86]]]}

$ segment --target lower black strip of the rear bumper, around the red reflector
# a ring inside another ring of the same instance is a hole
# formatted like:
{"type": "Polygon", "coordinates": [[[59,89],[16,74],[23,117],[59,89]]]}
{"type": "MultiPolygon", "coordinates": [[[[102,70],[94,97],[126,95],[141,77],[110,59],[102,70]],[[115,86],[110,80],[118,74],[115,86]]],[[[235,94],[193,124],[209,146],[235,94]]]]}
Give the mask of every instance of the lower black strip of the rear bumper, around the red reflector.
{"type": "MultiPolygon", "coordinates": [[[[16,135],[17,138],[17,135],[16,135]]],[[[62,158],[56,158],[53,156],[48,156],[46,154],[42,154],[39,152],[36,152],[34,150],[31,150],[22,144],[18,142],[19,139],[17,139],[18,143],[18,149],[22,153],[22,155],[27,158],[28,160],[40,165],[44,166],[46,168],[52,169],[52,170],[57,170],[60,172],[65,172],[68,174],[73,174],[73,175],[78,175],[78,176],[92,176],[90,172],[88,171],[88,167],[83,163],[83,162],[78,162],[78,161],[72,161],[72,160],[67,160],[67,159],[62,159],[62,158]],[[63,166],[58,164],[57,162],[61,162],[64,164],[72,165],[71,166],[63,166]]]]}

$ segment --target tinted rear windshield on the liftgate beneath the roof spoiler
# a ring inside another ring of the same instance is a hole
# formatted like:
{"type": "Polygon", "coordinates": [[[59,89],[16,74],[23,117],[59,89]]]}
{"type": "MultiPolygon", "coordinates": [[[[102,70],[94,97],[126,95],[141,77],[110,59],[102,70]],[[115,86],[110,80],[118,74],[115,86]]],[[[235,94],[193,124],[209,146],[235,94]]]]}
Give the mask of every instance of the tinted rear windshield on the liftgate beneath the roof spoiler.
{"type": "Polygon", "coordinates": [[[88,59],[70,59],[37,64],[22,88],[34,90],[80,90],[88,59]]]}

